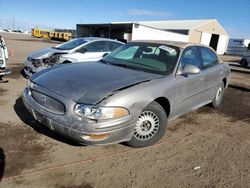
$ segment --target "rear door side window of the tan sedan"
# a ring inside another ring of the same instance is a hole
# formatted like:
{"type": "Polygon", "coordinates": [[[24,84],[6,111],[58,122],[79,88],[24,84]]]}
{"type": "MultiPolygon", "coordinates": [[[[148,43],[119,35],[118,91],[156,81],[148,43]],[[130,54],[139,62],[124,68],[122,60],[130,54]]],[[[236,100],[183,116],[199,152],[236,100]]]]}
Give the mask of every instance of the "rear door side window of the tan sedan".
{"type": "Polygon", "coordinates": [[[218,64],[218,58],[212,50],[209,48],[200,47],[200,51],[203,61],[203,68],[212,67],[218,64]]]}

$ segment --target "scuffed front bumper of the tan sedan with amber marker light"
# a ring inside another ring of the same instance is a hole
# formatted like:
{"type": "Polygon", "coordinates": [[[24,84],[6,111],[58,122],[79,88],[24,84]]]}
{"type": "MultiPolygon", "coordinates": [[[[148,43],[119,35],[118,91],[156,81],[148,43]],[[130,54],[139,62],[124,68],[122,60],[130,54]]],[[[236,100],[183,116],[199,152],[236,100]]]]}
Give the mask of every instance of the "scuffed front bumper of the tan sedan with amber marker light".
{"type": "Polygon", "coordinates": [[[82,119],[73,112],[73,106],[66,106],[63,115],[44,110],[26,88],[22,95],[23,103],[33,117],[48,127],[83,145],[106,145],[128,141],[133,136],[137,116],[130,115],[117,120],[96,122],[82,119]]]}

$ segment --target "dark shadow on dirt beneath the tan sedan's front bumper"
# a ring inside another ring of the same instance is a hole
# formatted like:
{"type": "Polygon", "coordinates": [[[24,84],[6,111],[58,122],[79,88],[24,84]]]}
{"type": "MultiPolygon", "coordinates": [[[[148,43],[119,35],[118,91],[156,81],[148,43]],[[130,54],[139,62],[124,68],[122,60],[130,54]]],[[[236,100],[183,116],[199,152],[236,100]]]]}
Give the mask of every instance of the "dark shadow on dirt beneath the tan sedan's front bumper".
{"type": "Polygon", "coordinates": [[[21,97],[16,99],[16,103],[14,105],[14,110],[15,110],[16,114],[18,115],[18,117],[22,120],[22,122],[25,123],[26,125],[30,126],[31,128],[33,128],[36,132],[43,134],[43,135],[46,135],[50,138],[53,138],[57,141],[66,143],[66,144],[71,145],[71,146],[83,146],[81,144],[78,144],[78,143],[68,139],[67,137],[64,137],[64,136],[50,130],[46,126],[44,126],[41,123],[39,123],[38,121],[36,121],[34,119],[34,117],[30,114],[30,112],[25,108],[21,97]]]}

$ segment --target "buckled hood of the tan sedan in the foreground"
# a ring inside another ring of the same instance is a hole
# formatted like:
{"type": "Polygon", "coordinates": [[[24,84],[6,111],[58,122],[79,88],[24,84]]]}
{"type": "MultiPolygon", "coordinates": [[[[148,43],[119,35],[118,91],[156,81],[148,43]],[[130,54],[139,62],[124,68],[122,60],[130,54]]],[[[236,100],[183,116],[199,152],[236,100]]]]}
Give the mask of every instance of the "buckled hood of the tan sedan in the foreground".
{"type": "Polygon", "coordinates": [[[160,77],[162,75],[88,62],[46,69],[34,74],[31,81],[77,103],[97,104],[118,90],[160,77]]]}

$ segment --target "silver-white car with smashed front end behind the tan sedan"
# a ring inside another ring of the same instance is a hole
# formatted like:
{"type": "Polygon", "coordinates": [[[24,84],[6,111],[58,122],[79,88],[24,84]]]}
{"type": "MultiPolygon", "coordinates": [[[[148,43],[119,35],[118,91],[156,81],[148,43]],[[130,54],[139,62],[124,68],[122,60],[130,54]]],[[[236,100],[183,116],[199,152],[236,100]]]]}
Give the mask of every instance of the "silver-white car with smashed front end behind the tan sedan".
{"type": "Polygon", "coordinates": [[[56,47],[33,52],[24,62],[27,77],[60,63],[98,61],[104,54],[123,45],[122,42],[96,37],[77,38],[56,47]]]}

